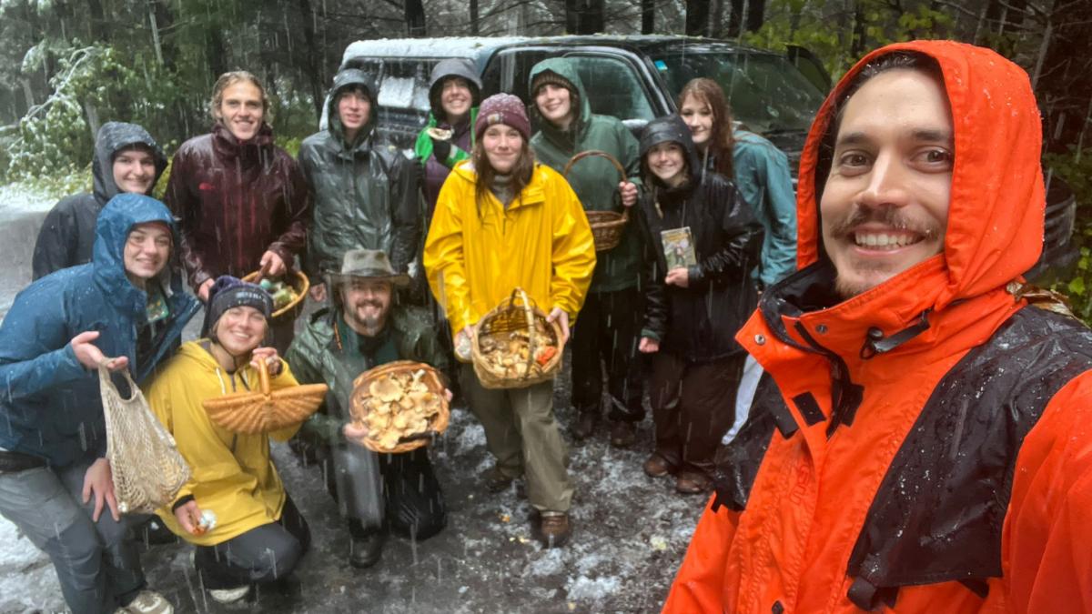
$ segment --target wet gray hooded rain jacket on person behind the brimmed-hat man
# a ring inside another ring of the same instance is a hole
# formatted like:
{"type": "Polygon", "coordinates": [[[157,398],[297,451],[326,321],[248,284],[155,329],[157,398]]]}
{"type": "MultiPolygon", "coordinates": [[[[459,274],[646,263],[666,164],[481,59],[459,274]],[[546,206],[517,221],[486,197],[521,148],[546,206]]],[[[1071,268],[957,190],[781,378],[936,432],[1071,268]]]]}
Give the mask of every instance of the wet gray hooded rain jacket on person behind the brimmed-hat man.
{"type": "Polygon", "coordinates": [[[311,189],[313,217],[308,231],[304,271],[311,283],[341,268],[351,249],[381,249],[399,272],[417,252],[420,219],[417,165],[392,145],[373,145],[376,84],[357,69],[334,76],[328,116],[330,128],[311,134],[299,147],[299,164],[311,189]],[[371,99],[368,122],[352,143],[345,142],[337,117],[337,94],[360,85],[371,99]]]}

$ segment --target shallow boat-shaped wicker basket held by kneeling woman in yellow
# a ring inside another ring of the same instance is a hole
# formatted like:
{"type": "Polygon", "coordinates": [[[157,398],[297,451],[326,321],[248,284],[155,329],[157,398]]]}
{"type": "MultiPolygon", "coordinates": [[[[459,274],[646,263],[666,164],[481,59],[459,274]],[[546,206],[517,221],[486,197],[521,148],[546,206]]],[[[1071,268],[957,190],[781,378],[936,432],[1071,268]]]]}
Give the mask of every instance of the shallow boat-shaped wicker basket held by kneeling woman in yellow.
{"type": "Polygon", "coordinates": [[[327,394],[325,383],[270,390],[265,361],[259,361],[259,389],[236,392],[201,402],[209,417],[219,426],[244,435],[269,433],[302,422],[314,413],[327,394]]]}

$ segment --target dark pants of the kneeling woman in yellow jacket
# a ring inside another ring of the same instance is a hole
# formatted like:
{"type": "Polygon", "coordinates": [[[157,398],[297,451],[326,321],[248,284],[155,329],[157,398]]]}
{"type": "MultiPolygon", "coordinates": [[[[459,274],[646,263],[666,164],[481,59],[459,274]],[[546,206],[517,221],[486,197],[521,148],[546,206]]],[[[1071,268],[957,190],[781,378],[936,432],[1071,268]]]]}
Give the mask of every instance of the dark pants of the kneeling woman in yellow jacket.
{"type": "Polygon", "coordinates": [[[206,589],[272,582],[296,568],[310,543],[307,521],[285,494],[280,520],[214,546],[198,546],[193,563],[206,589]]]}

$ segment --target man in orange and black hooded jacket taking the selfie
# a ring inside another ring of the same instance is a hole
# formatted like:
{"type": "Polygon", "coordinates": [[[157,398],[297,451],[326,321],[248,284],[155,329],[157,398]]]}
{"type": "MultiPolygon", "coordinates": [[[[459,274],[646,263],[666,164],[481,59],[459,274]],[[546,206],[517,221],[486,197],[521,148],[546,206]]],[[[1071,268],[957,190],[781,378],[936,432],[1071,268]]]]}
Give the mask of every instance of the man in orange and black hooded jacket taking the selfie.
{"type": "Polygon", "coordinates": [[[1043,240],[1028,75],[950,42],[865,57],[800,161],[799,271],[664,612],[1092,611],[1092,333],[1043,240]]]}

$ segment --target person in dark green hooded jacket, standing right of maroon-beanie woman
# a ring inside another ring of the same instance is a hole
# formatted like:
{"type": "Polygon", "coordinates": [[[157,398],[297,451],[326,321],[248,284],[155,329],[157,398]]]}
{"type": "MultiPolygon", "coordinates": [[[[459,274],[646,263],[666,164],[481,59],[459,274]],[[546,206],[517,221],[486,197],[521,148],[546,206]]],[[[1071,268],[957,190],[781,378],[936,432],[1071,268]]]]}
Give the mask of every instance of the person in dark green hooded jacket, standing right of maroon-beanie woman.
{"type": "MultiPolygon", "coordinates": [[[[584,211],[618,211],[637,202],[640,154],[637,139],[616,117],[592,113],[584,84],[573,62],[566,58],[543,60],[531,69],[531,98],[542,121],[531,139],[539,162],[562,172],[577,154],[598,150],[610,154],[626,170],[603,157],[587,157],[567,175],[584,211]]],[[[600,422],[603,400],[601,362],[606,364],[612,421],[610,444],[633,444],[636,424],[644,417],[641,405],[641,368],[638,336],[642,293],[641,243],[636,224],[626,225],[617,247],[596,253],[592,286],[572,333],[572,404],[579,417],[572,433],[591,437],[600,422]]]]}

